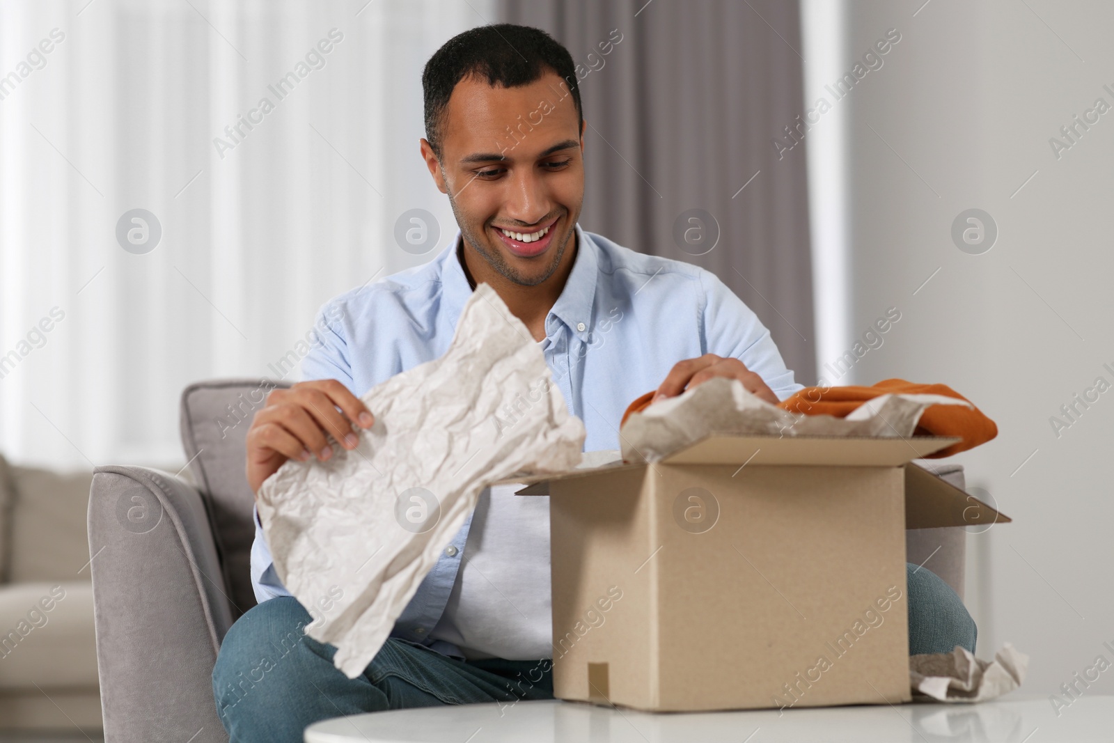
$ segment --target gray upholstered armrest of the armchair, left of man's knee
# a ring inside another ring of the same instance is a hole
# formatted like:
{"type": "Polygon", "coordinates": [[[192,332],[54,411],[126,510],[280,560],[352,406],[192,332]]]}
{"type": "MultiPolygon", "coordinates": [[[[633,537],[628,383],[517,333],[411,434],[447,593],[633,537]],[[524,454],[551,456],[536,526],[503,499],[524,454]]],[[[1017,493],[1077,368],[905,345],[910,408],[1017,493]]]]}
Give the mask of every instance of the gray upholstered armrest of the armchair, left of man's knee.
{"type": "Polygon", "coordinates": [[[106,740],[227,743],[211,678],[232,614],[201,493],[98,467],[89,551],[106,740]]]}

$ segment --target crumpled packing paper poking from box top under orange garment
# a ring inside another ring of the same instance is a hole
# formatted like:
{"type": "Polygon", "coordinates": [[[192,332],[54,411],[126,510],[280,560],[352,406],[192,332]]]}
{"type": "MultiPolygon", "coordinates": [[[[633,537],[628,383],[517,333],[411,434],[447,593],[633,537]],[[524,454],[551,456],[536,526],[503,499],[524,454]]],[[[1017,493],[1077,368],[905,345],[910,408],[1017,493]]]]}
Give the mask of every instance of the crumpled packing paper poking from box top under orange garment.
{"type": "Polygon", "coordinates": [[[714,378],[632,413],[619,437],[623,459],[656,462],[710,433],[911,437],[931,405],[970,403],[940,394],[882,394],[847,418],[805,416],[770,404],[737,379],[714,378]]]}

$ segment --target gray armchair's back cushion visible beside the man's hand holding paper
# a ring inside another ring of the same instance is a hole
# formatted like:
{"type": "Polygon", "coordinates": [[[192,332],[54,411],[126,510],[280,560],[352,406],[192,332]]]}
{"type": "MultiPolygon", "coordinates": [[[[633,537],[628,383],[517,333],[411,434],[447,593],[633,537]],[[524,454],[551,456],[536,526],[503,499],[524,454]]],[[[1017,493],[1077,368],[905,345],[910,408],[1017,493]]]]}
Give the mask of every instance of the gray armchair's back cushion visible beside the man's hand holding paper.
{"type": "Polygon", "coordinates": [[[255,606],[252,590],[252,506],[244,466],[245,438],[255,411],[276,388],[268,379],[213,380],[190,384],[182,393],[182,446],[205,500],[233,619],[255,606]]]}

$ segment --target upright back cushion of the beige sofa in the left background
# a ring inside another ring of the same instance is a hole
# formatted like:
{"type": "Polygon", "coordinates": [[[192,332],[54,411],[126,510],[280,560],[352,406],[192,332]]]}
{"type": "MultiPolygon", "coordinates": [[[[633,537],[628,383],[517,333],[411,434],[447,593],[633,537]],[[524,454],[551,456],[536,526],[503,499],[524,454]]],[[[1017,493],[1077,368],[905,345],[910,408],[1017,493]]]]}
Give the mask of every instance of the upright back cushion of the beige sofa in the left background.
{"type": "Polygon", "coordinates": [[[14,500],[8,580],[89,580],[86,519],[92,472],[18,466],[9,472],[14,500]]]}

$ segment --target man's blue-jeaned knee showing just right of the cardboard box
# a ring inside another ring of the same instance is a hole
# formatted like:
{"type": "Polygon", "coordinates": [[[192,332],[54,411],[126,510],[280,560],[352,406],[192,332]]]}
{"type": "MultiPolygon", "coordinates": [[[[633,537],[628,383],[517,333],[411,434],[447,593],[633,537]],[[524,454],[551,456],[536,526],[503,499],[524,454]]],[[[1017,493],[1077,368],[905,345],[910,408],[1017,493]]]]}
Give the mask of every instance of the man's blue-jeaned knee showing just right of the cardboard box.
{"type": "Polygon", "coordinates": [[[975,652],[978,628],[951,586],[925,567],[906,565],[909,593],[909,655],[975,652]]]}

